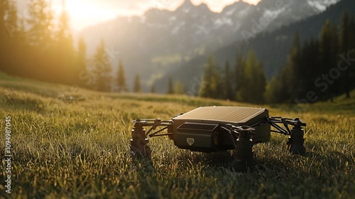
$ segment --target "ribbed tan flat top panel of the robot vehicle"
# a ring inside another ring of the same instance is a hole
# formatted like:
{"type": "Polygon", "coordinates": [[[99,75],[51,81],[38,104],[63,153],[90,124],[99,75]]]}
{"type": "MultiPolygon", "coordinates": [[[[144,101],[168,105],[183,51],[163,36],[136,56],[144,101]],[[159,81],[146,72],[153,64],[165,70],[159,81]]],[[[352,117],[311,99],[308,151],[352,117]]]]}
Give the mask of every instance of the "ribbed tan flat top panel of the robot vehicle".
{"type": "Polygon", "coordinates": [[[175,117],[174,120],[192,119],[244,123],[265,111],[266,109],[253,107],[199,107],[175,117]]]}

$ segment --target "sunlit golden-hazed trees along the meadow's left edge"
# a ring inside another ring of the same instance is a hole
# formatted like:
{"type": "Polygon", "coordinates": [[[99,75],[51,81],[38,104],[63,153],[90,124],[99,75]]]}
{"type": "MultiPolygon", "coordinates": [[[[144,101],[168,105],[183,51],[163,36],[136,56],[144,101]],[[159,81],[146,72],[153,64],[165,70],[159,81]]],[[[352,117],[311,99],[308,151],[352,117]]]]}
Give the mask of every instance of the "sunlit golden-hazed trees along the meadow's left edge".
{"type": "MultiPolygon", "coordinates": [[[[26,16],[18,14],[16,1],[1,1],[0,71],[94,90],[128,91],[121,60],[116,78],[112,77],[114,59],[103,40],[87,58],[86,43],[83,38],[75,43],[67,13],[63,10],[54,18],[48,1],[28,1],[26,16]]],[[[138,74],[133,91],[141,91],[138,74]]]]}

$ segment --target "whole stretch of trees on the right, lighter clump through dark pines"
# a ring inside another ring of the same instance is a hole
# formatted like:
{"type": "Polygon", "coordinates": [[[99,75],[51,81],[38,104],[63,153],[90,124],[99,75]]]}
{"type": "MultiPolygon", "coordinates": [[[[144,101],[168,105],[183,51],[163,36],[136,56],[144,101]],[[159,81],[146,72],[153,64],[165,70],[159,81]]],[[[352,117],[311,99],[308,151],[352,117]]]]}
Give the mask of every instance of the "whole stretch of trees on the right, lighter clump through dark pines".
{"type": "MultiPolygon", "coordinates": [[[[266,82],[263,64],[249,50],[236,55],[233,70],[209,56],[202,75],[201,97],[251,103],[300,103],[333,100],[355,88],[355,19],[342,14],[339,27],[325,21],[320,37],[300,43],[295,34],[283,69],[266,82]]],[[[272,49],[271,49],[272,50],[272,49]]]]}

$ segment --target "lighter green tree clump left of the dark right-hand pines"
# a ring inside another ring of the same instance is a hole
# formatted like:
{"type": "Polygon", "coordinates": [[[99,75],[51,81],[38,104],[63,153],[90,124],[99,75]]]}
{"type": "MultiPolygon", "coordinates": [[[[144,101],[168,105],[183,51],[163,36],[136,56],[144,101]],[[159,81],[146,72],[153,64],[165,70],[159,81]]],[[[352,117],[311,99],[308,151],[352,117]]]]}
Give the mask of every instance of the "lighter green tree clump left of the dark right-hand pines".
{"type": "Polygon", "coordinates": [[[204,67],[200,97],[261,103],[266,89],[263,64],[249,50],[246,58],[236,55],[234,70],[226,62],[221,72],[212,55],[204,67]]]}

